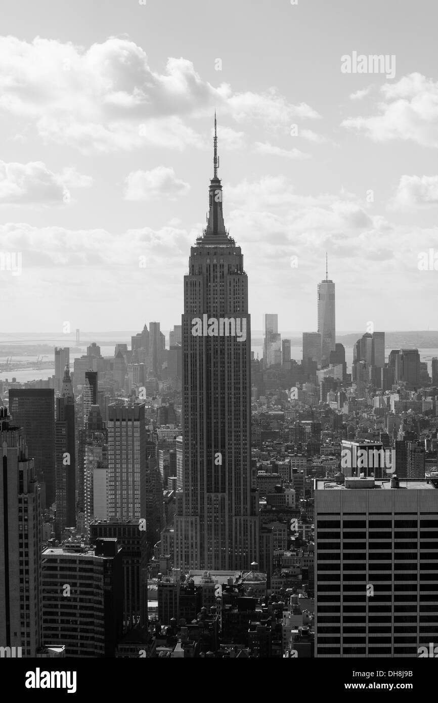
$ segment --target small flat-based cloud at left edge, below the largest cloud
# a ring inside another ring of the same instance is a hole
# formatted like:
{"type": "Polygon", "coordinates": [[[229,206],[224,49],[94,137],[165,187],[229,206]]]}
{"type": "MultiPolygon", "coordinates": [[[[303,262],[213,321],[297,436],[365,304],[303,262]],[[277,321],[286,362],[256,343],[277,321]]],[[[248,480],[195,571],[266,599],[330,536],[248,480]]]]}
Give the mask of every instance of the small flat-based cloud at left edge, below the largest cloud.
{"type": "Polygon", "coordinates": [[[71,167],[55,174],[41,161],[27,164],[0,161],[0,203],[3,205],[68,202],[67,186],[84,187],[91,183],[90,176],[79,174],[71,167]]]}

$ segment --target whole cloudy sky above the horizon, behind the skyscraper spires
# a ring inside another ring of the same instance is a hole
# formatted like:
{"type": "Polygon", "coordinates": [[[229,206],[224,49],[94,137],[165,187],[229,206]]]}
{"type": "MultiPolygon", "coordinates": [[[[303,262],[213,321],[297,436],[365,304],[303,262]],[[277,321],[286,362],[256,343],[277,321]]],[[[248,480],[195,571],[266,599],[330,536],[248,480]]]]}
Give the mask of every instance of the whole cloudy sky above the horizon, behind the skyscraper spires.
{"type": "Polygon", "coordinates": [[[1,332],[181,323],[214,110],[253,329],[316,330],[326,251],[337,330],[438,329],[436,0],[0,16],[1,332]]]}

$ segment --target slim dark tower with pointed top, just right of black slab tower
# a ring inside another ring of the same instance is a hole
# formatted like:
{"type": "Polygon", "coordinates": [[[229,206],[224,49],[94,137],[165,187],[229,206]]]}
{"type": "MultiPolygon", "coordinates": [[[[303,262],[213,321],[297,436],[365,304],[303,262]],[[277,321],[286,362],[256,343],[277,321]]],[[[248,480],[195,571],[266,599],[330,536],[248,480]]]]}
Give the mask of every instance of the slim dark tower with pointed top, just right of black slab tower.
{"type": "Polygon", "coordinates": [[[56,536],[76,527],[76,413],[70,370],[56,399],[56,536]]]}

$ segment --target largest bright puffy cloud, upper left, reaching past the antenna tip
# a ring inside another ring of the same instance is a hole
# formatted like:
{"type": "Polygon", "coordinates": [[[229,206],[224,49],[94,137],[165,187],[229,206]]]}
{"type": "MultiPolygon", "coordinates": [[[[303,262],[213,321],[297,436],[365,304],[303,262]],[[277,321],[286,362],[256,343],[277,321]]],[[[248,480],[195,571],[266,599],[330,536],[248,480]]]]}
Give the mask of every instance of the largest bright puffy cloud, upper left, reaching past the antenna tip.
{"type": "MultiPolygon", "coordinates": [[[[292,117],[315,119],[306,103],[292,105],[275,89],[236,93],[214,88],[193,63],[169,58],[152,70],[134,41],[110,37],[88,49],[55,39],[0,37],[0,111],[27,120],[44,142],[91,151],[161,146],[203,148],[190,119],[228,115],[285,129],[292,117]]],[[[226,142],[243,140],[231,131],[226,142]]],[[[233,148],[233,147],[231,147],[233,148]]]]}

